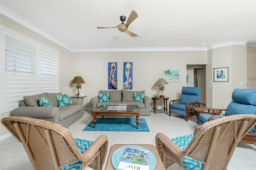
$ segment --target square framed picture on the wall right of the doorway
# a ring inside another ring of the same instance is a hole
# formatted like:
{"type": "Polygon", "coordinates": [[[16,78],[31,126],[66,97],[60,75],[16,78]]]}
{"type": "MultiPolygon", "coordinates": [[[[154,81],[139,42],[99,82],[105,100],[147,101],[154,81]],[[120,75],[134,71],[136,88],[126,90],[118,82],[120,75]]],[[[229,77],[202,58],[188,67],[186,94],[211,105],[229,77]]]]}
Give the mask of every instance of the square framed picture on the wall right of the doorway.
{"type": "Polygon", "coordinates": [[[213,82],[228,81],[228,67],[213,68],[213,82]]]}

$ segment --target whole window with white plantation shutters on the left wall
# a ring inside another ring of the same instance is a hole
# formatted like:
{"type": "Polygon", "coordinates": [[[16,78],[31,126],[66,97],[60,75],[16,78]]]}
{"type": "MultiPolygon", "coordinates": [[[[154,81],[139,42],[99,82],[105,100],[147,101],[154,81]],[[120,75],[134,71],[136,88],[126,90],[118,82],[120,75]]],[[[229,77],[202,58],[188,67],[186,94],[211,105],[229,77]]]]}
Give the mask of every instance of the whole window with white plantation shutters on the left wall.
{"type": "Polygon", "coordinates": [[[24,96],[58,92],[57,50],[3,28],[1,42],[1,113],[24,96]]]}

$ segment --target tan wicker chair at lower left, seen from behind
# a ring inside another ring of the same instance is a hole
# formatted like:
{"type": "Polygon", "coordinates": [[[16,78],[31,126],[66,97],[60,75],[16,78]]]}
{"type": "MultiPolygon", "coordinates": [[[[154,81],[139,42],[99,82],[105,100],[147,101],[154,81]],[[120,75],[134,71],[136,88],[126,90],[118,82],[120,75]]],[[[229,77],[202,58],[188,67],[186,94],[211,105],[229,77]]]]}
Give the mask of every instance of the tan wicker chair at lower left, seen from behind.
{"type": "Polygon", "coordinates": [[[6,117],[1,123],[23,144],[35,170],[57,170],[79,162],[83,170],[102,169],[108,148],[105,135],[81,153],[70,131],[59,124],[28,117],[6,117]]]}

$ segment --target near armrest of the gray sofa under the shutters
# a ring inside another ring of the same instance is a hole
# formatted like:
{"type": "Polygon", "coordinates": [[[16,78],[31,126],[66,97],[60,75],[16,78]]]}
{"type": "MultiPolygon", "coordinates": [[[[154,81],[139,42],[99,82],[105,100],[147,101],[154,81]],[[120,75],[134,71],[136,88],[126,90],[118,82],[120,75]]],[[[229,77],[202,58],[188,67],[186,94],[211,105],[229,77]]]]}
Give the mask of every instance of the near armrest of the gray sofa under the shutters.
{"type": "Polygon", "coordinates": [[[32,118],[53,118],[60,120],[60,110],[58,107],[32,107],[22,106],[12,111],[12,116],[23,116],[32,118]]]}

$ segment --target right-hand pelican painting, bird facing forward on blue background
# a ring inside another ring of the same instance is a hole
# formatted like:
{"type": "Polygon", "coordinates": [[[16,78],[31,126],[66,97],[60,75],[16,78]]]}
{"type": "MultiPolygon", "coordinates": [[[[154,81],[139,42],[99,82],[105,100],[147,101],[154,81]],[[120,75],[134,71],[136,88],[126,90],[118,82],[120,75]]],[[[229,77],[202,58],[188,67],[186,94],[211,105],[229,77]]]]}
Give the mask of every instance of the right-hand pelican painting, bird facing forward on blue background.
{"type": "Polygon", "coordinates": [[[123,89],[132,89],[132,62],[124,62],[123,89]]]}

